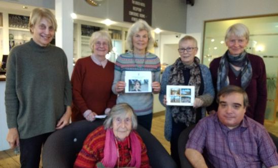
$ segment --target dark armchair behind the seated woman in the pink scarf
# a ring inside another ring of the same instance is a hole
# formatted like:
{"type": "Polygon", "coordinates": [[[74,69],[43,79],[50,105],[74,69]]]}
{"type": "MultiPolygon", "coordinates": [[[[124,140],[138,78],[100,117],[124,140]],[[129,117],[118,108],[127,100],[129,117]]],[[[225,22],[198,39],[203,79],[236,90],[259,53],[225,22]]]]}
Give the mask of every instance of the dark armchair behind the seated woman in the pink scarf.
{"type": "MultiPolygon", "coordinates": [[[[102,123],[103,120],[96,120],[93,122],[83,120],[74,122],[52,133],[43,148],[43,167],[73,167],[85,138],[92,130],[102,125],[102,123]]],[[[177,167],[175,161],[172,160],[165,148],[147,129],[138,125],[137,132],[146,144],[150,164],[153,168],[177,167]]]]}

